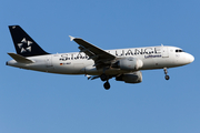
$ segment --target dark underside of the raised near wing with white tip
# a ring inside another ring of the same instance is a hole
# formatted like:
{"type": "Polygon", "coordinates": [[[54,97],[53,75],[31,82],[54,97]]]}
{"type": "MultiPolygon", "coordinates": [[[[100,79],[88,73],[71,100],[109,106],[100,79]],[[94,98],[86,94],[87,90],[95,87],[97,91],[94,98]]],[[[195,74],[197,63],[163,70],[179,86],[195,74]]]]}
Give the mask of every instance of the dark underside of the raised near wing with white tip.
{"type": "Polygon", "coordinates": [[[111,64],[111,61],[113,61],[117,57],[113,54],[110,54],[109,52],[82,40],[79,38],[70,37],[71,41],[74,41],[79,44],[80,52],[84,52],[89,59],[92,59],[94,61],[94,65],[98,68],[103,68],[109,64],[111,64]]]}

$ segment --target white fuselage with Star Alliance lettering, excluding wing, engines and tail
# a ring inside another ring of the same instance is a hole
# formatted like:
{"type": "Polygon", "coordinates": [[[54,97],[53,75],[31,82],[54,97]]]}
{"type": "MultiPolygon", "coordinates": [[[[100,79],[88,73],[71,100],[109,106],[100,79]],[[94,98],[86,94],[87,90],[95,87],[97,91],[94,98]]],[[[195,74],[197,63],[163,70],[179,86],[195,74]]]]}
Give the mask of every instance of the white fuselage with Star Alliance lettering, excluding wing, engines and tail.
{"type": "MultiPolygon", "coordinates": [[[[143,62],[140,70],[152,70],[163,68],[174,68],[191,63],[194,58],[176,47],[148,47],[148,48],[132,48],[106,50],[107,52],[118,57],[132,57],[140,59],[143,62]]],[[[8,61],[7,64],[11,66],[36,70],[59,74],[91,74],[100,75],[102,70],[97,70],[94,61],[89,59],[83,52],[47,54],[27,58],[33,63],[19,63],[14,60],[8,61]]],[[[109,69],[108,74],[120,74],[124,71],[120,69],[109,69]]]]}

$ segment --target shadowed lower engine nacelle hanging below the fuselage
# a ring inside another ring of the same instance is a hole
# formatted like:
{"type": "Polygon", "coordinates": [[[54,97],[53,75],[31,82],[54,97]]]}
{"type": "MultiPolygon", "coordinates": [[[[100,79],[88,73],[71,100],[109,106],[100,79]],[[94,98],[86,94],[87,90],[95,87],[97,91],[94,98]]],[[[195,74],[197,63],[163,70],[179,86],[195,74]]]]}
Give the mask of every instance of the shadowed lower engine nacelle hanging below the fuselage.
{"type": "Polygon", "coordinates": [[[124,81],[126,83],[140,83],[142,82],[142,73],[140,71],[124,73],[116,78],[117,81],[124,81]]]}

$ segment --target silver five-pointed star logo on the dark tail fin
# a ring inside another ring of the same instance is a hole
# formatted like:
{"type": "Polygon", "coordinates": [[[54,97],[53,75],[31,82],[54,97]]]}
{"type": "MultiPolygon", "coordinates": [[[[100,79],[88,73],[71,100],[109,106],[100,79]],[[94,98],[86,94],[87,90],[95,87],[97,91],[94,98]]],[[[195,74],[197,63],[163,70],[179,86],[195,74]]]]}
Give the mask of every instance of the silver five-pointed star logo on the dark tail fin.
{"type": "Polygon", "coordinates": [[[24,52],[31,52],[31,41],[28,41],[26,38],[21,40],[20,43],[18,43],[19,49],[21,50],[21,53],[24,52]]]}

